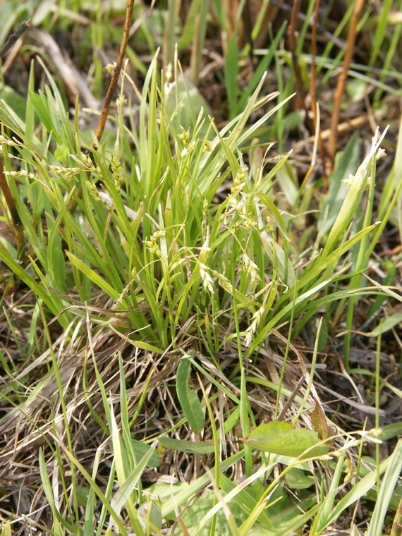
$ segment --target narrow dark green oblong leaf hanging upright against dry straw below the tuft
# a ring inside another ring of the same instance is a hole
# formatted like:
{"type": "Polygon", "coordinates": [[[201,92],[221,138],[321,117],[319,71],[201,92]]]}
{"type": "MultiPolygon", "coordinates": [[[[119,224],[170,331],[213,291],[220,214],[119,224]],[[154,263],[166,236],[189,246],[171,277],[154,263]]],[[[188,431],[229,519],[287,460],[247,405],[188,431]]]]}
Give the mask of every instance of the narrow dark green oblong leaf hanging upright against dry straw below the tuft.
{"type": "Polygon", "coordinates": [[[193,430],[200,431],[205,425],[205,416],[197,393],[188,384],[191,374],[191,363],[183,358],[177,367],[176,391],[185,418],[193,430]]]}

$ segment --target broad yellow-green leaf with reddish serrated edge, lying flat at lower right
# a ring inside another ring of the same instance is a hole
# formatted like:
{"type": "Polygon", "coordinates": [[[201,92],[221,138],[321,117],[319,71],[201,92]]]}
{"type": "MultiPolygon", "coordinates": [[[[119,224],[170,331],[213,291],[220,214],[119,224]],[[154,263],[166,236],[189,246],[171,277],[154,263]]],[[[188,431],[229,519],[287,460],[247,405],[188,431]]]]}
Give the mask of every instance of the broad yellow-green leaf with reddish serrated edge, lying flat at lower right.
{"type": "Polygon", "coordinates": [[[307,449],[304,458],[327,454],[329,446],[320,445],[317,432],[296,428],[288,422],[274,420],[254,428],[247,437],[241,438],[246,445],[254,449],[282,454],[300,456],[307,449]]]}

